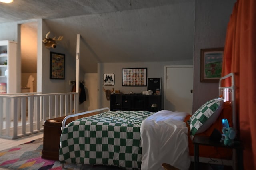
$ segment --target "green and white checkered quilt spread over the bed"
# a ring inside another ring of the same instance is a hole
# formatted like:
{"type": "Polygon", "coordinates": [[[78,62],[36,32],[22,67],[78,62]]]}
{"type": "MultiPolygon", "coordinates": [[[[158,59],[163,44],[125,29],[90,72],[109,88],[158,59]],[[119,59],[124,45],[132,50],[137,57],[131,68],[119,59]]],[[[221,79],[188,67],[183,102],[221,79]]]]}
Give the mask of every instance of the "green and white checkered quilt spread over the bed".
{"type": "Polygon", "coordinates": [[[140,125],[154,114],[108,111],[66,125],[60,138],[60,163],[141,167],[140,125]]]}

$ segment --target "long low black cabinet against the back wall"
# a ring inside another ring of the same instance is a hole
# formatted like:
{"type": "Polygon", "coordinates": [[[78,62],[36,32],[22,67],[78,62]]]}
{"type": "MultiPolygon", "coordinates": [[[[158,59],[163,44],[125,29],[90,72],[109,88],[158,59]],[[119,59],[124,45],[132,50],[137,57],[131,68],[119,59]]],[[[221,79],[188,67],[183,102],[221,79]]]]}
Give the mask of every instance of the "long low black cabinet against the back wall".
{"type": "Polygon", "coordinates": [[[160,111],[161,95],[130,95],[112,94],[110,95],[110,110],[124,111],[160,111]]]}

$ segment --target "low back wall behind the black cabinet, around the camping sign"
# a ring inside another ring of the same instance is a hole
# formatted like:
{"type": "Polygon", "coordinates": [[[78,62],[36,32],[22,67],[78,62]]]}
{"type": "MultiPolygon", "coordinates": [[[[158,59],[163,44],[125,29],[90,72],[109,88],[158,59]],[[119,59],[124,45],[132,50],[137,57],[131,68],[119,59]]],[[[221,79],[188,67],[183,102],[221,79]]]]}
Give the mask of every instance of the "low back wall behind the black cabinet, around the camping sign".
{"type": "MultiPolygon", "coordinates": [[[[164,66],[165,65],[193,65],[192,60],[182,60],[182,61],[170,61],[170,62],[140,62],[140,63],[98,63],[98,108],[100,107],[109,107],[110,103],[106,99],[106,95],[102,90],[105,89],[120,90],[120,92],[127,94],[130,91],[134,93],[141,93],[142,91],[147,90],[146,86],[122,86],[122,68],[147,68],[147,77],[162,78],[162,87],[163,89],[163,79],[164,79],[164,66]],[[103,85],[103,74],[104,73],[114,73],[115,83],[114,86],[104,86],[103,85]]],[[[162,95],[163,101],[163,95],[162,95]]],[[[162,102],[163,104],[163,102],[162,102]]]]}

